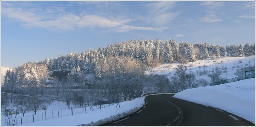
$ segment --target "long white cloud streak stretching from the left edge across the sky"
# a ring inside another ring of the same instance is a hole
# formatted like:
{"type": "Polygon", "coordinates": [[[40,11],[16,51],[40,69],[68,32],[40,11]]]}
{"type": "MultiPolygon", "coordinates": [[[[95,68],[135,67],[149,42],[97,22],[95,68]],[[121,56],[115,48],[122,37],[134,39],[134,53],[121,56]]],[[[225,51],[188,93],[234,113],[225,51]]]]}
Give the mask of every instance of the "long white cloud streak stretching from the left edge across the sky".
{"type": "Polygon", "coordinates": [[[91,14],[74,13],[53,13],[50,10],[28,11],[17,7],[2,7],[1,14],[4,20],[19,22],[27,27],[38,27],[48,30],[70,31],[83,28],[103,28],[117,30],[117,32],[128,32],[131,30],[145,30],[161,32],[167,28],[152,28],[128,25],[132,19],[122,19],[119,17],[105,17],[91,14]]]}

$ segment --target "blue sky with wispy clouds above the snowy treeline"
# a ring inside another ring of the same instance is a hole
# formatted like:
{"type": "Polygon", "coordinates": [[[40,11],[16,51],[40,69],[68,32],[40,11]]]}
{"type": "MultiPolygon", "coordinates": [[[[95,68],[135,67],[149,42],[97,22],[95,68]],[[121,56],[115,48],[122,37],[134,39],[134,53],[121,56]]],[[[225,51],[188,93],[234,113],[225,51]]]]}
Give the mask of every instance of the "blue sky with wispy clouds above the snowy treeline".
{"type": "Polygon", "coordinates": [[[255,1],[1,1],[1,66],[122,41],[255,43],[255,1]]]}

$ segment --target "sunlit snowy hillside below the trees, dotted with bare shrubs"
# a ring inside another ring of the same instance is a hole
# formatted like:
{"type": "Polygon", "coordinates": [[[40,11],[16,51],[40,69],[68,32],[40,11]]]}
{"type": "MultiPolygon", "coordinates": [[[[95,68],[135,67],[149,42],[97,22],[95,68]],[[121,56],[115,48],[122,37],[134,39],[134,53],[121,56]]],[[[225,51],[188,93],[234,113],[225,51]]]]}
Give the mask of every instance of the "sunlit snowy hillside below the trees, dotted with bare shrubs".
{"type": "MultiPolygon", "coordinates": [[[[167,75],[169,78],[174,75],[175,68],[179,63],[167,63],[154,68],[153,74],[167,75]]],[[[197,60],[193,63],[187,63],[186,73],[193,72],[196,78],[206,79],[210,83],[210,77],[207,75],[211,71],[219,67],[222,70],[221,78],[230,79],[237,77],[236,70],[240,67],[255,66],[255,56],[252,57],[220,57],[197,60]],[[226,71],[223,69],[226,67],[226,71]],[[205,72],[205,73],[204,73],[205,72]]],[[[150,74],[146,72],[146,74],[150,74]]],[[[209,85],[209,84],[208,84],[209,85]]]]}

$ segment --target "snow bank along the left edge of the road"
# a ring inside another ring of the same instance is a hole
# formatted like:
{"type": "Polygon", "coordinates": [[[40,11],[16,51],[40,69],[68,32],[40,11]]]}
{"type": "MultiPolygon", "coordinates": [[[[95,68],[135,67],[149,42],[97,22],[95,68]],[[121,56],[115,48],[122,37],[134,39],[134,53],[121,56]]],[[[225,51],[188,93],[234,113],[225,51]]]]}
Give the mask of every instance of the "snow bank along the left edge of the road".
{"type": "MultiPolygon", "coordinates": [[[[144,99],[135,98],[132,101],[120,102],[120,108],[116,105],[91,111],[87,113],[74,114],[69,116],[62,116],[60,118],[47,119],[47,121],[35,121],[35,123],[23,123],[17,126],[99,126],[108,122],[116,121],[122,117],[126,117],[135,113],[144,105],[144,99]]],[[[2,123],[4,124],[4,123],[2,123]]]]}

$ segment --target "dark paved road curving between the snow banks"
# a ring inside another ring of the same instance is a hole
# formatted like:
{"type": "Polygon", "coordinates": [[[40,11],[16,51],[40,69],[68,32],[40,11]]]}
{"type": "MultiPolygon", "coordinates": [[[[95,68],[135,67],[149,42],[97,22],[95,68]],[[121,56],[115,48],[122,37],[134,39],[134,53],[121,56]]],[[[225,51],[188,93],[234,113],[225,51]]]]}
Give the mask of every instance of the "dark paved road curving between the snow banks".
{"type": "Polygon", "coordinates": [[[103,126],[255,126],[234,114],[173,95],[149,95],[136,113],[103,126]]]}

